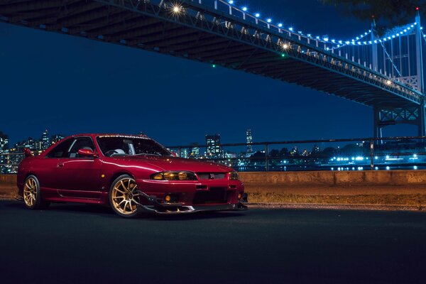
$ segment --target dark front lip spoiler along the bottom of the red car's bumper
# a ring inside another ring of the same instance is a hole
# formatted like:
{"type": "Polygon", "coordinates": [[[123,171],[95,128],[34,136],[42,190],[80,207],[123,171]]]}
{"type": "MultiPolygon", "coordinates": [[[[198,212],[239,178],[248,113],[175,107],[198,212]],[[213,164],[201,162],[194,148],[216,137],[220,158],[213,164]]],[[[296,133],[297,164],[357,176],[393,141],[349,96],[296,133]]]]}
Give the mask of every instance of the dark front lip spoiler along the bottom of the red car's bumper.
{"type": "Polygon", "coordinates": [[[241,202],[236,204],[215,204],[215,205],[192,205],[186,206],[181,204],[161,204],[157,201],[155,196],[149,196],[146,193],[138,190],[138,193],[145,197],[150,205],[144,205],[138,203],[139,209],[143,212],[155,213],[155,214],[187,214],[187,213],[195,213],[195,212],[209,212],[209,211],[245,211],[247,210],[246,205],[241,202]]]}

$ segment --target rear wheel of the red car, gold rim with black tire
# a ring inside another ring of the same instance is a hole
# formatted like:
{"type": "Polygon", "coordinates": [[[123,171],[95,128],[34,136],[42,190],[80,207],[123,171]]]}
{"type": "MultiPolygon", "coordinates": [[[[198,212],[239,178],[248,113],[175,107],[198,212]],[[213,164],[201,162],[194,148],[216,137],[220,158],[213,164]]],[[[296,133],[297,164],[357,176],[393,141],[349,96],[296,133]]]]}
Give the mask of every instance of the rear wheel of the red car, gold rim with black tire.
{"type": "Polygon", "coordinates": [[[23,204],[28,209],[46,209],[50,202],[43,200],[40,192],[40,182],[35,175],[28,175],[23,182],[23,204]]]}

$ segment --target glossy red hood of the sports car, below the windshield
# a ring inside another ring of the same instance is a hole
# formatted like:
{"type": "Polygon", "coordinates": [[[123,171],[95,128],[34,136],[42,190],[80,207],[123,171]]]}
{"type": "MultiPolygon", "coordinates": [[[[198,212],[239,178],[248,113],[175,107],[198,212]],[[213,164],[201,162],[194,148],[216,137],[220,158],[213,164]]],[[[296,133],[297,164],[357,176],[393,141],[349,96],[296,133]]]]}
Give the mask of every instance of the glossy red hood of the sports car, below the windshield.
{"type": "Polygon", "coordinates": [[[188,170],[195,173],[227,173],[232,169],[217,163],[209,163],[200,160],[177,158],[172,156],[125,156],[114,157],[116,160],[125,160],[130,163],[143,163],[152,165],[162,170],[188,170]]]}

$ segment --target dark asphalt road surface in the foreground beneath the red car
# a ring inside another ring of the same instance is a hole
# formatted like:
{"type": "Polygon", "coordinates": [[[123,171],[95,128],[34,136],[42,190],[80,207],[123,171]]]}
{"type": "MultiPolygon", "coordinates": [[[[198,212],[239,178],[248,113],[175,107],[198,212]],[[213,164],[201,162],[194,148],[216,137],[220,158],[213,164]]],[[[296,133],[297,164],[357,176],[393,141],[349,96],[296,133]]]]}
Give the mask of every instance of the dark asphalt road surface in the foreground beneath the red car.
{"type": "Polygon", "coordinates": [[[426,283],[425,212],[116,217],[0,201],[0,283],[426,283]]]}

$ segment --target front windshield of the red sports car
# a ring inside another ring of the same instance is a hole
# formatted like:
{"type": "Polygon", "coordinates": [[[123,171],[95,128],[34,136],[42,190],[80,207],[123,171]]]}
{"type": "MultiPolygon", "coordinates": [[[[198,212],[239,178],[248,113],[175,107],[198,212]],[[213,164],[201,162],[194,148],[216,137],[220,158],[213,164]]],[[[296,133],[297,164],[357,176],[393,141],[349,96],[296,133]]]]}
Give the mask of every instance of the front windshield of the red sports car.
{"type": "Polygon", "coordinates": [[[99,136],[99,148],[107,157],[123,155],[172,155],[149,138],[131,136],[99,136]]]}

